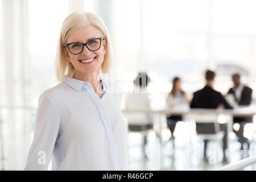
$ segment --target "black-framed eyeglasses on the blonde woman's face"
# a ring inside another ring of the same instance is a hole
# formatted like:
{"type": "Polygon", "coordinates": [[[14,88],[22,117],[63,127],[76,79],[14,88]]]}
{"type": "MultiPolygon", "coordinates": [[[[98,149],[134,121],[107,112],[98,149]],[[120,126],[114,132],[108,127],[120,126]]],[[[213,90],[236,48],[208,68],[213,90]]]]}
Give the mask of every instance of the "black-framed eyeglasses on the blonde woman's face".
{"type": "Polygon", "coordinates": [[[86,46],[90,51],[97,51],[101,48],[101,40],[104,40],[103,38],[96,38],[88,40],[86,43],[69,43],[66,46],[68,47],[69,51],[73,55],[78,55],[84,50],[84,46],[86,46]]]}

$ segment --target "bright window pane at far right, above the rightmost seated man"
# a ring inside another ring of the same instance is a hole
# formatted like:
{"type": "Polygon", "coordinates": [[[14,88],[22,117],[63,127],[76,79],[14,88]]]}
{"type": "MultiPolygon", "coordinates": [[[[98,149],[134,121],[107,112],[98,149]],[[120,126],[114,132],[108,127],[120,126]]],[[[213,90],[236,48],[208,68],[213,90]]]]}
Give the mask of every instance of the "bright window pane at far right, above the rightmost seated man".
{"type": "Polygon", "coordinates": [[[256,90],[255,5],[251,0],[212,1],[213,52],[219,75],[223,77],[218,87],[223,91],[233,72],[240,72],[242,81],[256,90]]]}

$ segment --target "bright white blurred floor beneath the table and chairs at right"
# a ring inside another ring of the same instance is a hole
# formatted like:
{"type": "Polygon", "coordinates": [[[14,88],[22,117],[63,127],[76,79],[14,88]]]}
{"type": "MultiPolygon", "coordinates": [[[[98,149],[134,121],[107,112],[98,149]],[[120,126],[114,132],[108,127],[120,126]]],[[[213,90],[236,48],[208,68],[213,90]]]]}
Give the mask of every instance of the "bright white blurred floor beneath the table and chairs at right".
{"type": "MultiPolygon", "coordinates": [[[[179,135],[179,137],[181,137],[179,135]]],[[[142,135],[129,133],[129,169],[130,170],[213,170],[235,163],[238,160],[256,155],[255,143],[251,143],[249,150],[240,150],[240,143],[231,136],[229,150],[226,151],[228,162],[222,163],[222,148],[220,142],[209,142],[209,162],[203,160],[203,141],[194,140],[191,143],[184,142],[184,138],[177,137],[174,145],[172,140],[165,140],[162,147],[162,164],[160,163],[159,138],[151,132],[146,144],[146,155],[142,151],[142,135]]],[[[255,170],[256,164],[246,167],[244,170],[255,170]]]]}

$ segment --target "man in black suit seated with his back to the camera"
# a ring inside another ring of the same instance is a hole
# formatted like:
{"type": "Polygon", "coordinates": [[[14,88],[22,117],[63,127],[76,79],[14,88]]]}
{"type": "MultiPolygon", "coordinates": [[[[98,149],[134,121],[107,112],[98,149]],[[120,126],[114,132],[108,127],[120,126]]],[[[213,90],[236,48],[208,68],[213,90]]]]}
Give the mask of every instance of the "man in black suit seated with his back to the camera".
{"type": "MultiPolygon", "coordinates": [[[[193,98],[191,101],[191,108],[208,108],[217,109],[218,107],[225,107],[225,109],[232,109],[232,106],[226,102],[225,98],[220,92],[213,89],[215,73],[213,71],[207,70],[205,73],[205,79],[207,84],[203,89],[193,93],[193,98]]],[[[211,128],[212,123],[196,123],[197,133],[209,134],[212,133],[211,128]]],[[[220,124],[220,130],[225,131],[223,137],[223,162],[227,161],[225,150],[228,147],[228,127],[227,124],[220,124]]],[[[208,140],[204,140],[204,160],[208,161],[206,150],[207,150],[208,140]]]]}

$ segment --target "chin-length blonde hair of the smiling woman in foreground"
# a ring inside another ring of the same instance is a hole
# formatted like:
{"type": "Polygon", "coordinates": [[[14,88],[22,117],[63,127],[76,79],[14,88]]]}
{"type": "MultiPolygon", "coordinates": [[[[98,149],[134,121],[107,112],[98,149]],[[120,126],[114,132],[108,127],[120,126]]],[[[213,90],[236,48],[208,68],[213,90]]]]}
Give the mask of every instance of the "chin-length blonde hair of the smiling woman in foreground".
{"type": "Polygon", "coordinates": [[[96,27],[100,31],[102,38],[106,40],[106,54],[101,65],[101,72],[108,73],[110,71],[113,53],[109,32],[104,22],[93,13],[72,13],[64,20],[60,30],[55,60],[56,76],[59,81],[63,81],[65,76],[72,77],[75,74],[75,68],[69,63],[67,53],[65,53],[67,51],[68,36],[87,24],[96,27]]]}

